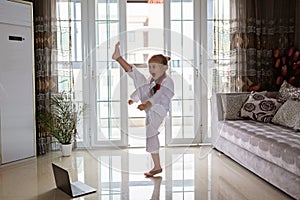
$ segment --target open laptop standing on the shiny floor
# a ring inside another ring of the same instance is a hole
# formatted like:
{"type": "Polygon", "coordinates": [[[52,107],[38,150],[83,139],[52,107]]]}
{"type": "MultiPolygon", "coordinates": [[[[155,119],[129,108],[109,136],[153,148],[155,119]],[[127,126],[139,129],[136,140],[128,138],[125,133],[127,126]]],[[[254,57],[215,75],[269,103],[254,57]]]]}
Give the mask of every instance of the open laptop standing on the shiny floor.
{"type": "Polygon", "coordinates": [[[71,197],[74,198],[96,192],[95,188],[80,181],[71,183],[68,171],[54,163],[52,163],[52,169],[56,187],[71,197]]]}

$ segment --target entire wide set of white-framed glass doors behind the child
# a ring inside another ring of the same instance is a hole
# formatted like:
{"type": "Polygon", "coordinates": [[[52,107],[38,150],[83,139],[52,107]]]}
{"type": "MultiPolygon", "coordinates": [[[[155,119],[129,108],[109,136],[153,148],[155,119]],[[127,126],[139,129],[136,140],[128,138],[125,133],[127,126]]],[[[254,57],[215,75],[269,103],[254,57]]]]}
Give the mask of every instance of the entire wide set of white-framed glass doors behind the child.
{"type": "Polygon", "coordinates": [[[59,39],[61,44],[72,44],[68,55],[76,58],[68,84],[74,82],[75,100],[88,104],[78,126],[78,146],[145,146],[145,113],[136,109],[137,104],[127,104],[133,82],[111,59],[117,41],[123,56],[146,76],[146,63],[153,54],[171,57],[168,74],[175,82],[175,96],[160,129],[160,142],[162,146],[198,144],[203,123],[194,10],[200,7],[193,0],[132,2],[60,2],[57,12],[68,12],[69,17],[62,21],[68,29],[61,30],[59,39]],[[64,31],[71,37],[63,37],[64,31]]]}

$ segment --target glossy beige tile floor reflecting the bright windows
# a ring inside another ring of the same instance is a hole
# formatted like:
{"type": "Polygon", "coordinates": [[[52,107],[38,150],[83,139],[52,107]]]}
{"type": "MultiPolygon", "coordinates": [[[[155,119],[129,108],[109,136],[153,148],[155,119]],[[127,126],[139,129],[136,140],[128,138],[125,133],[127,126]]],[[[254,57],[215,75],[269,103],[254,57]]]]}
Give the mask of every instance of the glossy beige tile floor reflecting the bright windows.
{"type": "Polygon", "coordinates": [[[289,196],[269,185],[225,155],[201,147],[161,149],[163,173],[145,178],[150,156],[141,149],[59,151],[0,167],[0,199],[71,199],[56,189],[51,163],[67,169],[72,181],[97,189],[75,199],[220,199],[285,200],[289,196]]]}

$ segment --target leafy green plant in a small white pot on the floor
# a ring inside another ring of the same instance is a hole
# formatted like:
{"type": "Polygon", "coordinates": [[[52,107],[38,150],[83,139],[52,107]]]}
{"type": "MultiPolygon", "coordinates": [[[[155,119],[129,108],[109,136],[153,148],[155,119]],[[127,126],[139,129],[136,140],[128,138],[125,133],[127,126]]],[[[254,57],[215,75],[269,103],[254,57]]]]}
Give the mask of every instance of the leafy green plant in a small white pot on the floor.
{"type": "Polygon", "coordinates": [[[77,122],[84,107],[76,108],[65,91],[52,95],[50,108],[39,113],[41,127],[61,144],[63,156],[70,156],[77,122]]]}

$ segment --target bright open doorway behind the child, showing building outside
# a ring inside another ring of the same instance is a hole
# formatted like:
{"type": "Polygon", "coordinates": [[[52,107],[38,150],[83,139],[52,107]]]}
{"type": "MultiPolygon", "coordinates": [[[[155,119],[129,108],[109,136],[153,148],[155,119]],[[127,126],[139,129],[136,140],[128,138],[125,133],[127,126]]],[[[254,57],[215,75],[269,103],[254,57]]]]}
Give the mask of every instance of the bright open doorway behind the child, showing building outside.
{"type": "MultiPolygon", "coordinates": [[[[126,56],[129,63],[149,77],[147,62],[154,54],[164,54],[164,6],[128,2],[126,4],[126,56]]],[[[128,78],[128,97],[134,91],[134,84],[128,78]]],[[[130,147],[144,147],[146,144],[145,112],[137,109],[139,103],[128,106],[128,144],[130,147]]],[[[160,129],[160,143],[165,144],[164,126],[160,129]]]]}

